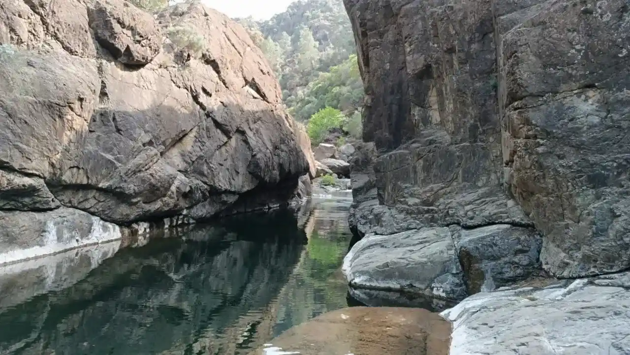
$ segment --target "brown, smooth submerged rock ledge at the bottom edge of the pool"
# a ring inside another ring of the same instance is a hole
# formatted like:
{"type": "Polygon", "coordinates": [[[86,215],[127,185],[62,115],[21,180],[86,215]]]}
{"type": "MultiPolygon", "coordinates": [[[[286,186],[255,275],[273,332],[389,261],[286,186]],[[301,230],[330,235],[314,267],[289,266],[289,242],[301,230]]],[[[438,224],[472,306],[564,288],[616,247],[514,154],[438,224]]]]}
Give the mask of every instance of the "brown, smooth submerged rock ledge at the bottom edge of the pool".
{"type": "Polygon", "coordinates": [[[450,323],[420,308],[353,307],[287,330],[250,355],[448,355],[450,323]]]}

